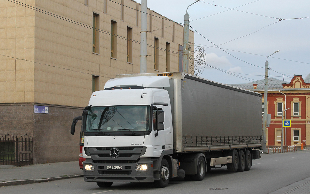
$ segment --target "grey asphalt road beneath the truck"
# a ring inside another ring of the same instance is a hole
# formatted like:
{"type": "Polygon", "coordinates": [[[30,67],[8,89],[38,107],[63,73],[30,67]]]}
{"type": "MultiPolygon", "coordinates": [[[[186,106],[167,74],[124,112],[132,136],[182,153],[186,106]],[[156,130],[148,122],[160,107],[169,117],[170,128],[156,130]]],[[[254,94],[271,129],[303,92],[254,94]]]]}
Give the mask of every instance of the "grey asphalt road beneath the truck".
{"type": "Polygon", "coordinates": [[[226,167],[212,169],[203,181],[172,179],[166,188],[154,188],[152,183],[113,183],[110,188],[100,188],[96,183],[84,182],[83,178],[64,179],[0,187],[0,193],[66,193],[66,194],[267,194],[291,183],[310,177],[310,151],[282,154],[262,154],[253,160],[250,171],[229,173],[226,167]],[[210,190],[210,188],[227,188],[210,190]]]}

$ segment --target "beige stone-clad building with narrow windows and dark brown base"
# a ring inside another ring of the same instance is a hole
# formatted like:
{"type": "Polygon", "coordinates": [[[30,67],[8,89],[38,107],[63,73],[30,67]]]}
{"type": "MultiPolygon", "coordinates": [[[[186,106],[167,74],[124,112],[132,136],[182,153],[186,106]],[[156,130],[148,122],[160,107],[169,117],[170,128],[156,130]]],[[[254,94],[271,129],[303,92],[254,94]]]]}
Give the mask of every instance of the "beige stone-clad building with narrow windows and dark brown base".
{"type": "MultiPolygon", "coordinates": [[[[140,71],[139,10],[132,0],[0,0],[0,137],[33,136],[34,163],[78,160],[73,118],[107,80],[140,71]]],[[[183,26],[147,12],[147,73],[179,71],[183,26]]]]}

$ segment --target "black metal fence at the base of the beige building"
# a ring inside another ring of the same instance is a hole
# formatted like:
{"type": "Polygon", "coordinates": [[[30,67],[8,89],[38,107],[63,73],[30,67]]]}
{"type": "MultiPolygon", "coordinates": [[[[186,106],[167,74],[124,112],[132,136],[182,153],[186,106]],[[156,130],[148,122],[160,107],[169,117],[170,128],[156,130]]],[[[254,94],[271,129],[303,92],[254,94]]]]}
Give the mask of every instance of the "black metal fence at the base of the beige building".
{"type": "Polygon", "coordinates": [[[0,139],[0,165],[30,165],[33,164],[33,138],[11,136],[6,134],[0,139]]]}

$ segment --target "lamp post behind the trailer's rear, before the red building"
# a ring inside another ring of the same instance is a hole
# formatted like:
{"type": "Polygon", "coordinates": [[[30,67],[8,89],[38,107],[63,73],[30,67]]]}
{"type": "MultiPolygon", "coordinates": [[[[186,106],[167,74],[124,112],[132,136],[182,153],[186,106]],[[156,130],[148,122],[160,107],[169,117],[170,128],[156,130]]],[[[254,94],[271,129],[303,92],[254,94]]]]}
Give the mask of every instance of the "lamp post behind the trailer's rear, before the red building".
{"type": "MultiPolygon", "coordinates": [[[[274,51],[271,55],[278,53],[279,50],[274,51]]],[[[268,57],[270,57],[269,55],[268,57]]],[[[263,115],[263,152],[267,153],[266,150],[266,131],[267,131],[267,110],[268,110],[268,103],[267,103],[267,97],[268,97],[268,57],[265,62],[265,91],[264,91],[264,115],[263,115]]]]}

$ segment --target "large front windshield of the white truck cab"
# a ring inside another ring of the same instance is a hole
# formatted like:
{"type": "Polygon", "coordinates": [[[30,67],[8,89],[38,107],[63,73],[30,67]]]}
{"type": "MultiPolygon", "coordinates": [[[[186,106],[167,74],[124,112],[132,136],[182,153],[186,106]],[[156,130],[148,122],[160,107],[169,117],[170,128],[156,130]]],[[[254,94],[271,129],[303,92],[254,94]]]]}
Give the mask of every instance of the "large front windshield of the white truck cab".
{"type": "Polygon", "coordinates": [[[91,107],[85,132],[148,131],[149,106],[91,107]]]}

